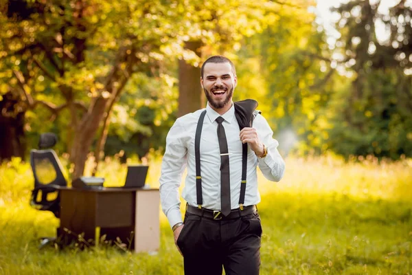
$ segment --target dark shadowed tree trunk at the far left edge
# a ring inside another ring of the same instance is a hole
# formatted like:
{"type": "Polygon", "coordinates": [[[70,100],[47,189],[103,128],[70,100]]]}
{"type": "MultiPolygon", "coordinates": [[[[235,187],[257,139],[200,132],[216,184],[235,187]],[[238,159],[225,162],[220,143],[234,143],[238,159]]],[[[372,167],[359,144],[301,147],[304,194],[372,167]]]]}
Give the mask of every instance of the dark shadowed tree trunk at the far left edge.
{"type": "Polygon", "coordinates": [[[13,114],[16,103],[11,93],[3,95],[0,101],[0,162],[12,157],[25,157],[25,112],[13,114]]]}

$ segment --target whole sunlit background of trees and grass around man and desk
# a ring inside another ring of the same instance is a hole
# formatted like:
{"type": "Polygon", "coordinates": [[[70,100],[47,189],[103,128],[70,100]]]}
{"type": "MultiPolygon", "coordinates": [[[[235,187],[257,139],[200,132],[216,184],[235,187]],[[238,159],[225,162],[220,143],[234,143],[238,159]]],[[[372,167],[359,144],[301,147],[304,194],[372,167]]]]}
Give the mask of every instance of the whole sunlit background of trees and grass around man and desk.
{"type": "Polygon", "coordinates": [[[411,274],[411,19],[411,0],[0,0],[0,274],[183,273],[163,214],[157,256],[38,250],[58,219],[25,160],[53,132],[66,177],[144,162],[159,187],[212,54],[286,158],[279,184],[258,174],[262,274],[411,274]]]}

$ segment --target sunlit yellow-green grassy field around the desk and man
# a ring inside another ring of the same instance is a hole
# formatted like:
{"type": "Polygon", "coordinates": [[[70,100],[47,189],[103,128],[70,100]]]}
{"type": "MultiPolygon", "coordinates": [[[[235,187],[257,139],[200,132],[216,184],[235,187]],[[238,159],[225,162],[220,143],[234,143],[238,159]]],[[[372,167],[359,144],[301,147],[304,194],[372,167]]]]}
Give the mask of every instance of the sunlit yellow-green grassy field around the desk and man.
{"type": "MultiPolygon", "coordinates": [[[[149,173],[158,186],[160,162],[149,173]]],[[[126,167],[107,159],[101,175],[122,182],[126,167]]],[[[58,219],[30,208],[32,185],[29,164],[0,167],[0,274],[183,274],[163,214],[154,256],[106,246],[39,250],[38,237],[53,236],[58,219]]],[[[260,192],[261,274],[412,274],[412,159],[289,158],[279,183],[260,175],[260,192]]]]}

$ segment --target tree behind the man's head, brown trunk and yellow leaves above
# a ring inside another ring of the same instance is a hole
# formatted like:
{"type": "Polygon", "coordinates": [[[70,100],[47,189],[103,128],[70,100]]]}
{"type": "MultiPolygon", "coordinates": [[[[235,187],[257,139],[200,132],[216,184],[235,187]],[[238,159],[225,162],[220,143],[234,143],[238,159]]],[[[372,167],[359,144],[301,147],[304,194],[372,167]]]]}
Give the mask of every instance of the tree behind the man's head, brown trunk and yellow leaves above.
{"type": "Polygon", "coordinates": [[[262,32],[274,23],[283,9],[304,8],[308,1],[192,1],[184,9],[190,12],[190,22],[198,26],[185,43],[190,58],[179,61],[179,116],[205,107],[200,85],[201,64],[213,54],[225,54],[236,59],[244,39],[262,32]]]}

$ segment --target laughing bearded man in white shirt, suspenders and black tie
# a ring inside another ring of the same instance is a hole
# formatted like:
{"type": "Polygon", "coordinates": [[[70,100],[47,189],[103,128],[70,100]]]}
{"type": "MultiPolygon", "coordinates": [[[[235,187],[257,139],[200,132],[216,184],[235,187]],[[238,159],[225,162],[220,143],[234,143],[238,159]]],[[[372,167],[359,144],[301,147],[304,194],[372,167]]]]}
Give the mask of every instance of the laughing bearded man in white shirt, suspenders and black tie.
{"type": "MultiPolygon", "coordinates": [[[[242,107],[232,101],[237,82],[228,58],[208,58],[201,68],[206,109],[178,118],[166,139],[161,205],[183,255],[185,274],[222,274],[222,267],[228,275],[259,274],[262,227],[255,206],[260,202],[256,166],[267,179],[279,181],[285,164],[262,115],[254,112],[253,127],[240,130],[242,107]],[[186,165],[183,223],[179,186],[186,165]]],[[[243,105],[249,116],[257,105],[253,102],[243,105]]]]}

